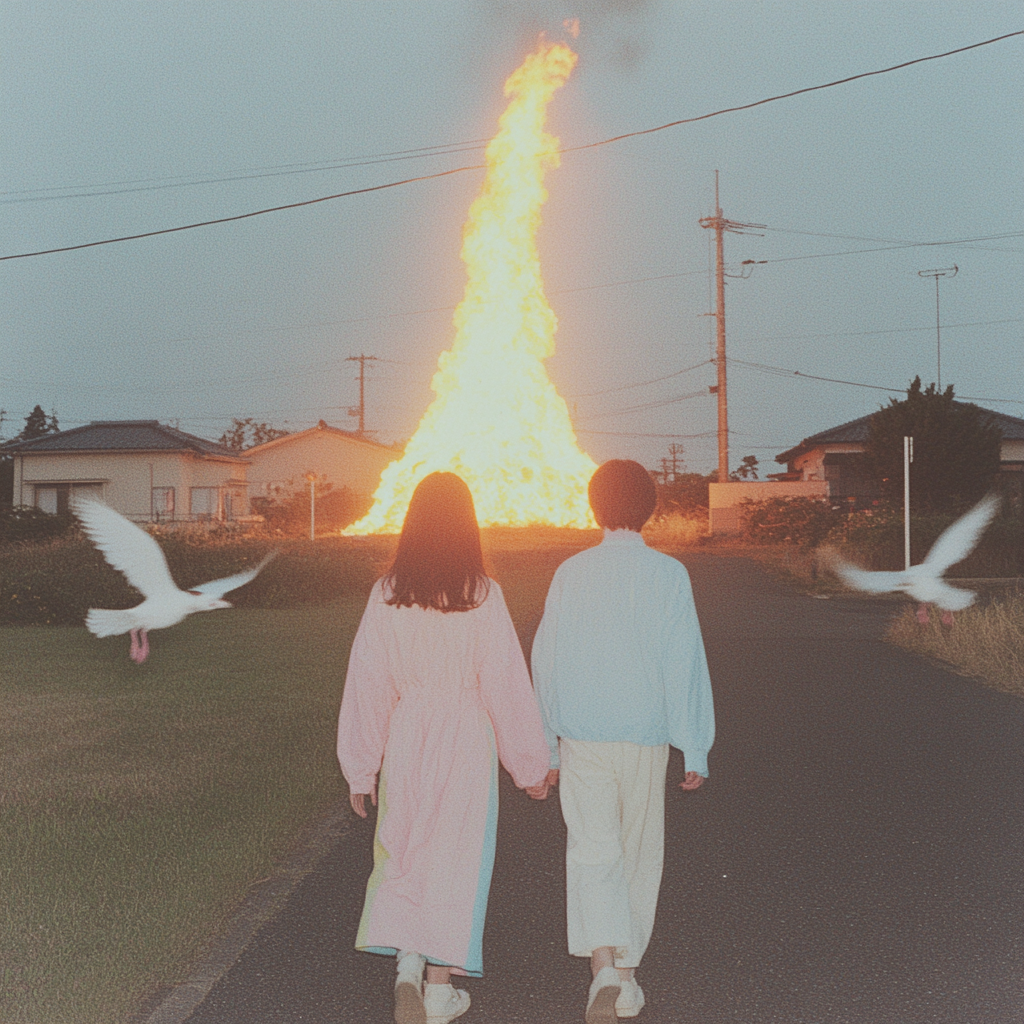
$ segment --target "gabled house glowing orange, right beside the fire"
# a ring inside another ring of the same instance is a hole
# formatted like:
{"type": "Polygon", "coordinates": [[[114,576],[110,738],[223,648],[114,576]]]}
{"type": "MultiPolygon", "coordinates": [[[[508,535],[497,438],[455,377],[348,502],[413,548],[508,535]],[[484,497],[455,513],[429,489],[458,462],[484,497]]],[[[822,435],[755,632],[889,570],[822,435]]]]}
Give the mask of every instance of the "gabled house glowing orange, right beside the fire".
{"type": "Polygon", "coordinates": [[[312,475],[318,483],[369,497],[377,489],[384,467],[400,455],[399,449],[321,420],[309,430],[275,437],[246,452],[249,495],[287,497],[308,487],[312,475]]]}

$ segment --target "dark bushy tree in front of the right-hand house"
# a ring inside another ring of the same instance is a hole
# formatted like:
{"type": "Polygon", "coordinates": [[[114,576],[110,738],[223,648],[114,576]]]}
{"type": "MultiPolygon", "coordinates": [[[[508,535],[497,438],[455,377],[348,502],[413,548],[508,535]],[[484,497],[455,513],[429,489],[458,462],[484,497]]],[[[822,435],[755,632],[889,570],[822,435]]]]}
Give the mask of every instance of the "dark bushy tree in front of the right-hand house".
{"type": "Polygon", "coordinates": [[[892,502],[903,496],[903,438],[913,438],[910,502],[933,512],[978,501],[999,471],[999,428],[985,411],[954,401],[950,384],[922,390],[915,377],[906,398],[891,398],[870,420],[864,464],[892,502]]]}

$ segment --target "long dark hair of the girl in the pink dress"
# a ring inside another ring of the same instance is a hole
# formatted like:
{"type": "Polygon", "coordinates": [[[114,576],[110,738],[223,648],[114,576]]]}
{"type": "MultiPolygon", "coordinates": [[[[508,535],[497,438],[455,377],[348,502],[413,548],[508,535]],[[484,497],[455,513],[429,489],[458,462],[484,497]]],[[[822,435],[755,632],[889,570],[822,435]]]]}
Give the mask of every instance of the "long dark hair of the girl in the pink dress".
{"type": "Polygon", "coordinates": [[[469,487],[455,473],[425,476],[413,492],[384,577],[386,603],[468,611],[483,602],[488,588],[469,487]]]}

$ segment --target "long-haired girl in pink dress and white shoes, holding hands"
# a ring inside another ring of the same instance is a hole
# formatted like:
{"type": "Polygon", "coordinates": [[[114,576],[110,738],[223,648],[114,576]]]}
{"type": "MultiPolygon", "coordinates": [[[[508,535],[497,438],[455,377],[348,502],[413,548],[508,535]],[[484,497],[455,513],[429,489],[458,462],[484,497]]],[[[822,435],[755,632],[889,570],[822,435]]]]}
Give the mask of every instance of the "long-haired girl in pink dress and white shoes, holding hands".
{"type": "Polygon", "coordinates": [[[368,796],[378,805],[355,946],[397,955],[397,1024],[447,1024],[469,1009],[451,975],[482,974],[499,759],[529,796],[547,796],[540,711],[483,568],[472,496],[454,473],[431,473],[374,585],[338,722],[352,809],[366,817],[368,796]]]}

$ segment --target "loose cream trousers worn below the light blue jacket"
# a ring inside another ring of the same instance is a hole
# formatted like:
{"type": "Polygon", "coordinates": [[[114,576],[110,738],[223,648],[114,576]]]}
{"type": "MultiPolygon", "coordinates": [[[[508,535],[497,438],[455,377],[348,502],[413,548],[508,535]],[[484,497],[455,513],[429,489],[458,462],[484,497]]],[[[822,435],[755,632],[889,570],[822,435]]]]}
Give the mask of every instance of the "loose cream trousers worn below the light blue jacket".
{"type": "Polygon", "coordinates": [[[558,743],[569,953],[612,946],[615,967],[639,967],[665,863],[669,744],[558,743]]]}

